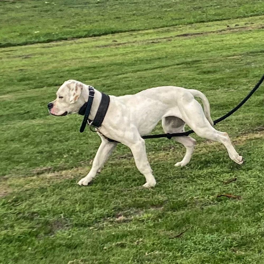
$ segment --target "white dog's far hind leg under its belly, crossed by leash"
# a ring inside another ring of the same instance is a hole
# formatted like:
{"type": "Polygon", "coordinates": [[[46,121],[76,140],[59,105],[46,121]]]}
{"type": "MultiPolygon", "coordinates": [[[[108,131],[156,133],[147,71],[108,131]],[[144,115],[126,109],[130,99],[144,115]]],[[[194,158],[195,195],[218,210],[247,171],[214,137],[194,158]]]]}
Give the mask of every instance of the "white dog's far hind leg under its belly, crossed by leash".
{"type": "MultiPolygon", "coordinates": [[[[180,133],[184,132],[185,122],[176,116],[167,116],[161,120],[162,128],[165,133],[180,133]]],[[[196,140],[190,136],[175,136],[172,137],[176,142],[181,143],[186,148],[186,153],[182,161],[177,162],[174,166],[185,166],[191,160],[192,153],[194,152],[194,146],[196,140]]]]}

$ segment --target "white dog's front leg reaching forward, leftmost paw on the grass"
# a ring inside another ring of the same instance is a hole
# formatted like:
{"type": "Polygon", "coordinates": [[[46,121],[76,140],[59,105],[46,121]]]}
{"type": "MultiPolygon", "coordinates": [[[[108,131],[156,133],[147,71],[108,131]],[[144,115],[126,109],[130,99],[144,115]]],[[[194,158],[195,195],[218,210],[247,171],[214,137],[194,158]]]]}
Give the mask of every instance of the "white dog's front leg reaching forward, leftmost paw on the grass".
{"type": "Polygon", "coordinates": [[[93,159],[92,168],[84,178],[79,180],[78,182],[79,185],[86,186],[88,185],[89,182],[93,180],[93,178],[95,178],[98,170],[106,162],[107,158],[110,156],[112,150],[115,148],[117,144],[114,142],[109,142],[105,138],[101,138],[101,139],[102,139],[102,143],[96,152],[95,158],[93,159]]]}

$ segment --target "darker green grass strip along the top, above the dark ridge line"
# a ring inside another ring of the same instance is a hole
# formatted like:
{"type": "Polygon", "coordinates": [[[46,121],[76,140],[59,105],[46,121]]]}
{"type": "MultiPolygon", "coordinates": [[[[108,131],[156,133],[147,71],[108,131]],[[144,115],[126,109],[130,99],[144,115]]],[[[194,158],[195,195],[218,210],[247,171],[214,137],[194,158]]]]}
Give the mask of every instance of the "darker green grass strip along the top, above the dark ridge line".
{"type": "Polygon", "coordinates": [[[262,1],[1,1],[0,47],[264,14],[262,1]],[[19,12],[18,12],[19,11],[19,12]]]}

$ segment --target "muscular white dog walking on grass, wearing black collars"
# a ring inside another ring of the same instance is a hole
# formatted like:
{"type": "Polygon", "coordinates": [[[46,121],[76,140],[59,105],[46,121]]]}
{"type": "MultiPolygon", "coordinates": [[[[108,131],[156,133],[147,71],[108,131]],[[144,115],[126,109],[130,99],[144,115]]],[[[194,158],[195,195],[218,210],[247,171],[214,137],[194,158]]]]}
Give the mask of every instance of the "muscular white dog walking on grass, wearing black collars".
{"type": "MultiPolygon", "coordinates": [[[[88,101],[88,87],[74,80],[64,82],[56,93],[56,99],[48,105],[50,114],[63,116],[78,113],[88,101]]],[[[102,94],[95,89],[90,120],[95,117],[101,97],[102,94]]],[[[101,145],[97,150],[91,170],[78,184],[88,185],[117,145],[116,142],[109,142],[107,137],[131,149],[136,167],[146,179],[143,187],[155,186],[156,180],[152,175],[145,141],[141,136],[150,133],[160,120],[162,120],[165,133],[182,132],[187,124],[198,136],[222,143],[230,159],[238,164],[243,163],[242,156],[239,156],[233,147],[228,134],[213,128],[210,105],[203,93],[194,89],[161,86],[141,91],[135,95],[110,96],[109,108],[101,127],[97,130],[102,140],[101,145]],[[200,103],[195,100],[195,96],[201,98],[204,111],[200,103]]],[[[185,166],[191,159],[196,141],[190,136],[178,136],[173,139],[186,148],[182,161],[177,162],[175,166],[185,166]]]]}

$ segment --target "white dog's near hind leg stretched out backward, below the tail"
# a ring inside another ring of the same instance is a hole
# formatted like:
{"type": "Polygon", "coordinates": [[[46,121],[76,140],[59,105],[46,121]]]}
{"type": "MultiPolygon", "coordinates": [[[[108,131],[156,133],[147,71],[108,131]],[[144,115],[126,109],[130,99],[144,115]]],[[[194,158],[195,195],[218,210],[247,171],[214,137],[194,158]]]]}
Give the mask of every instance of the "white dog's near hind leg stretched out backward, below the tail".
{"type": "Polygon", "coordinates": [[[205,117],[200,103],[188,94],[184,95],[181,101],[182,105],[179,109],[181,111],[181,117],[186,124],[201,138],[207,138],[222,143],[226,147],[230,159],[241,165],[243,163],[243,158],[235,150],[228,134],[218,131],[211,126],[210,122],[205,117]]]}

